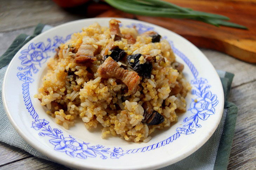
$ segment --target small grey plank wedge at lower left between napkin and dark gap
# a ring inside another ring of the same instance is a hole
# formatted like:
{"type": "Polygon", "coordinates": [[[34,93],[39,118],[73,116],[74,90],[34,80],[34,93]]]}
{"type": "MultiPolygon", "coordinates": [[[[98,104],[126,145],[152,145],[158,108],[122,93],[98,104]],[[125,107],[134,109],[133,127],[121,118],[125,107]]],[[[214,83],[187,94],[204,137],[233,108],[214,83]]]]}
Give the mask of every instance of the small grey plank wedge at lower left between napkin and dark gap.
{"type": "Polygon", "coordinates": [[[24,150],[0,142],[0,166],[22,158],[31,156],[24,150]]]}

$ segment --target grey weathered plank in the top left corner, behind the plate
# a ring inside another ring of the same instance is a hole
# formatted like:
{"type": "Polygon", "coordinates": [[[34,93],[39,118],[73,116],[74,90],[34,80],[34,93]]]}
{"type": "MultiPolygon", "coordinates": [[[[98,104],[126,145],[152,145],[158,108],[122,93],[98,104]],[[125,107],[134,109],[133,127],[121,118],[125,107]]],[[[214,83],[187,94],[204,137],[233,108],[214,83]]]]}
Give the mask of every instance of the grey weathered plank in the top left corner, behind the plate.
{"type": "Polygon", "coordinates": [[[1,1],[0,11],[1,32],[33,27],[40,22],[53,24],[83,17],[63,10],[51,0],[1,1]]]}

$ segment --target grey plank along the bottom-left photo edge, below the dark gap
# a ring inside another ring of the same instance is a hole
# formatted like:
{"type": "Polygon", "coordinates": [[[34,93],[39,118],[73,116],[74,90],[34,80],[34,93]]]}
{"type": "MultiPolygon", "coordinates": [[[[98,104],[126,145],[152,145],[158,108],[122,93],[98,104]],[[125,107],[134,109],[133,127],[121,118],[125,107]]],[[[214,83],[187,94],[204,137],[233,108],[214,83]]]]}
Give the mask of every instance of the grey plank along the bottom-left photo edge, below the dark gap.
{"type": "Polygon", "coordinates": [[[10,170],[10,169],[19,169],[19,170],[39,170],[39,169],[47,169],[47,170],[70,170],[61,164],[50,162],[43,160],[37,157],[30,157],[25,160],[17,161],[11,164],[7,164],[5,166],[0,167],[2,170],[10,170]]]}

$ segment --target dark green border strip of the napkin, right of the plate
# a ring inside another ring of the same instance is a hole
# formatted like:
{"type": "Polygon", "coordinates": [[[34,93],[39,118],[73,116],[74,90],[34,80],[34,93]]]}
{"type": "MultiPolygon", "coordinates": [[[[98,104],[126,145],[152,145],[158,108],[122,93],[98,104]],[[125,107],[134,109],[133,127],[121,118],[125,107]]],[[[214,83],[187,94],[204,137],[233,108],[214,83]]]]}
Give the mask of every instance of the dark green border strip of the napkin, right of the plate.
{"type": "Polygon", "coordinates": [[[235,134],[237,106],[232,102],[228,102],[227,109],[228,111],[217,151],[214,170],[224,170],[228,167],[229,154],[235,134]]]}

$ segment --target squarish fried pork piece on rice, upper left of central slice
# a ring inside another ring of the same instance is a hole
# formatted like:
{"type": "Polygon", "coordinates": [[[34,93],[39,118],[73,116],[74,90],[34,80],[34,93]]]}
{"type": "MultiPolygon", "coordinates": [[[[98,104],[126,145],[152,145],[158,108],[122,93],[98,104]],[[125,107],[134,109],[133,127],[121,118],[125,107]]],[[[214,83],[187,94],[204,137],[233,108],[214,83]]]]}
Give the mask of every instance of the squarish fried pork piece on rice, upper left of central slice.
{"type": "Polygon", "coordinates": [[[87,62],[96,61],[96,57],[94,55],[98,51],[98,48],[95,48],[90,44],[82,44],[79,47],[78,52],[75,54],[75,62],[77,64],[84,64],[87,62]]]}

